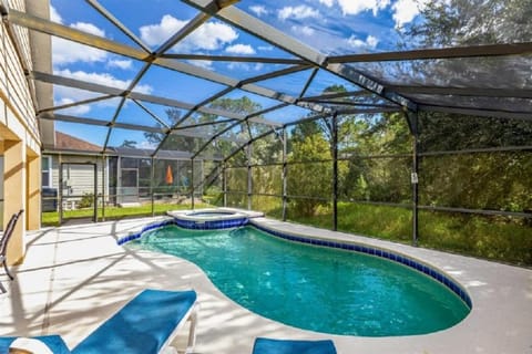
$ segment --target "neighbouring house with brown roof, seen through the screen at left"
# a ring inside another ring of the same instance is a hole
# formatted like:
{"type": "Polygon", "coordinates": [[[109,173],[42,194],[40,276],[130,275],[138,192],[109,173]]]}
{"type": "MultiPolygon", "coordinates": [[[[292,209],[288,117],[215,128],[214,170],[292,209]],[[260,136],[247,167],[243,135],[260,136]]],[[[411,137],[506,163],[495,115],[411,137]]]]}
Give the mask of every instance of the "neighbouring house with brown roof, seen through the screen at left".
{"type": "MultiPolygon", "coordinates": [[[[101,146],[55,132],[54,148],[50,147],[42,154],[43,211],[58,210],[59,194],[64,210],[88,207],[85,204],[90,196],[94,196],[94,192],[101,196],[102,191],[106,205],[119,206],[151,201],[152,191],[156,199],[186,195],[190,188],[191,154],[160,152],[153,176],[152,154],[151,149],[110,147],[105,150],[104,158],[101,146]],[[168,169],[172,183],[167,181],[168,169]]],[[[204,163],[195,159],[194,166],[197,186],[203,179],[204,163]]],[[[202,195],[203,187],[197,188],[195,194],[202,195]]]]}

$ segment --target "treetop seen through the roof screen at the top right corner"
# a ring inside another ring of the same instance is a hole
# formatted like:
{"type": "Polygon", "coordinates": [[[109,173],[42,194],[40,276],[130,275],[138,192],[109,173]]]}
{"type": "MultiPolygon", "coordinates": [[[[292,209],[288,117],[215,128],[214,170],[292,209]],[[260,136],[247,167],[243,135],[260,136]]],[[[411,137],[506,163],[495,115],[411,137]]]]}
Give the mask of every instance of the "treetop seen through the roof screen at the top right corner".
{"type": "MultiPolygon", "coordinates": [[[[400,29],[403,46],[519,43],[529,42],[532,33],[532,0],[432,0],[424,2],[420,15],[421,20],[400,29]]],[[[380,66],[377,69],[380,75],[397,77],[400,84],[408,84],[412,79],[416,83],[441,86],[529,87],[532,84],[532,77],[525,74],[532,66],[530,55],[421,60],[376,66],[380,66]]]]}

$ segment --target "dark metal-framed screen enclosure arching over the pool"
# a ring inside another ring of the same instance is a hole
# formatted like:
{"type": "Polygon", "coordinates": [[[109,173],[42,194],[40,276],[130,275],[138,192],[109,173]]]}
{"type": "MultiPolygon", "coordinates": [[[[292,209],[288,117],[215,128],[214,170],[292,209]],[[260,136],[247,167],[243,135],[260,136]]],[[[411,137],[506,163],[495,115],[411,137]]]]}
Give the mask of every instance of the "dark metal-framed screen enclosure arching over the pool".
{"type": "Polygon", "coordinates": [[[19,2],[44,223],[227,206],[532,266],[532,1],[19,2]]]}

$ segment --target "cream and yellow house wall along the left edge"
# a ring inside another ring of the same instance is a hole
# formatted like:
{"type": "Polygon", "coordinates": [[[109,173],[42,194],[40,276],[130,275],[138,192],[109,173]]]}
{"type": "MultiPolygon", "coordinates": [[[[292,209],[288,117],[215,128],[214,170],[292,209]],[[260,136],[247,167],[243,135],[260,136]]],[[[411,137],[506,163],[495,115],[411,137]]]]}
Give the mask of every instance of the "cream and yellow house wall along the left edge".
{"type": "MultiPolygon", "coordinates": [[[[2,3],[25,11],[24,0],[2,3]]],[[[40,227],[41,140],[32,98],[34,90],[25,77],[25,71],[32,70],[29,31],[2,21],[0,39],[0,153],[3,156],[0,186],[6,200],[0,212],[3,227],[13,214],[24,209],[8,244],[8,263],[12,264],[23,260],[25,230],[40,227]]]]}

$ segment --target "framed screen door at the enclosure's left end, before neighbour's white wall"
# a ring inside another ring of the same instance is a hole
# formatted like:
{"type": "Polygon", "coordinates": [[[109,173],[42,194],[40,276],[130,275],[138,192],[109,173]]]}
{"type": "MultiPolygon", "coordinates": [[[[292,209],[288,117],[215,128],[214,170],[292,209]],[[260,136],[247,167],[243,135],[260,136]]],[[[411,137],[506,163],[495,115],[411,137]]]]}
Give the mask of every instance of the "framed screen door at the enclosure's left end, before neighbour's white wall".
{"type": "Polygon", "coordinates": [[[91,163],[61,163],[59,223],[96,222],[98,168],[91,163]]]}

